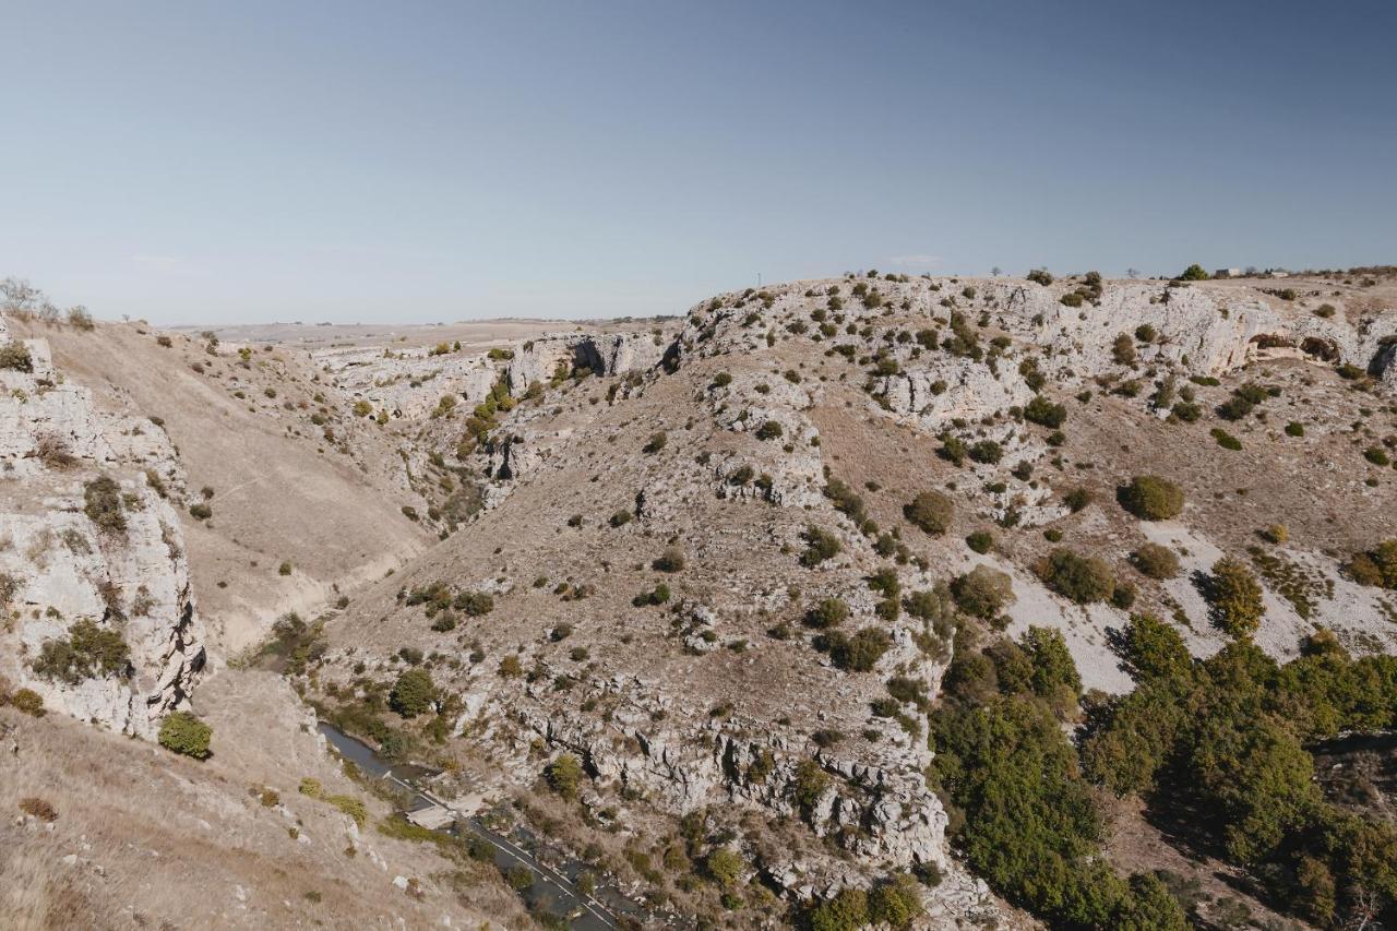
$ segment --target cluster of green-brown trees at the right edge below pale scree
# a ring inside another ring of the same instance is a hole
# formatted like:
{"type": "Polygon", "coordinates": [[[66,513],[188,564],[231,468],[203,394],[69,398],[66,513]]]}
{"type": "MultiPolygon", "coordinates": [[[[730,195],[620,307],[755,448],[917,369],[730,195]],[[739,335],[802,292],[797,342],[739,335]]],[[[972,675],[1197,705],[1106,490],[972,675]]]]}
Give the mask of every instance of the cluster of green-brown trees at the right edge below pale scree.
{"type": "Polygon", "coordinates": [[[1088,706],[1085,773],[1189,812],[1200,844],[1310,921],[1397,917],[1397,829],[1327,801],[1306,751],[1397,724],[1397,657],[1355,660],[1320,630],[1284,665],[1246,637],[1194,661],[1144,615],[1122,640],[1139,688],[1088,706]]]}

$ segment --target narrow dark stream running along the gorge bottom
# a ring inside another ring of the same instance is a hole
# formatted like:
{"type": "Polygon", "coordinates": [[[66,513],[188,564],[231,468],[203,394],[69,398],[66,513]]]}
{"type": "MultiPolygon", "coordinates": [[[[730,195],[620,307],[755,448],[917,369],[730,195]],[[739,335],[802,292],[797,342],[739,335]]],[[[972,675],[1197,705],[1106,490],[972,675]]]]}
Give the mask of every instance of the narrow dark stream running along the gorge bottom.
{"type": "MultiPolygon", "coordinates": [[[[420,780],[434,774],[433,770],[422,766],[388,763],[363,741],[349,737],[324,721],[320,723],[319,731],[326,735],[339,756],[358,766],[369,779],[387,779],[411,791],[412,807],[409,811],[432,808],[439,804],[440,800],[420,786],[420,780]]],[[[483,837],[495,850],[495,865],[502,872],[527,869],[534,882],[520,890],[525,904],[535,913],[562,918],[574,931],[615,931],[623,927],[640,927],[647,917],[644,909],[601,881],[591,895],[584,893],[577,888],[577,881],[584,872],[592,872],[588,865],[556,850],[549,851],[553,854],[549,857],[549,863],[541,861],[532,851],[545,844],[536,835],[524,828],[514,828],[509,835],[502,835],[486,826],[479,816],[472,815],[455,819],[451,826],[443,828],[441,832],[457,836],[465,832],[483,837]]]]}

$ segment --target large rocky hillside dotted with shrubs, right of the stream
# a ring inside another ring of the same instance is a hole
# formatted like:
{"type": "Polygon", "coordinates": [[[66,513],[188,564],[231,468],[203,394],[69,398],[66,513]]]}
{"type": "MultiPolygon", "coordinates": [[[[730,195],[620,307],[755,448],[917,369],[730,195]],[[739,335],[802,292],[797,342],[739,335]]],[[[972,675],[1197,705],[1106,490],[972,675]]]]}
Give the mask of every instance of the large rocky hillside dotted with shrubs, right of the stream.
{"type": "Polygon", "coordinates": [[[971,609],[944,583],[1006,572],[992,614],[1060,629],[1111,691],[1130,688],[1111,640],[1129,611],[1221,646],[1204,593],[1224,552],[1261,577],[1266,649],[1294,654],[1323,623],[1390,650],[1390,596],[1341,565],[1391,528],[1397,474],[1365,457],[1397,435],[1391,292],[888,277],[721,295],[648,373],[563,359],[573,377],[492,411],[478,442],[439,418],[437,454],[490,478],[488,510],[355,597],[320,685],[381,714],[420,663],[443,696],[433,732],[504,767],[502,791],[534,781],[541,752],[576,755],[587,818],[631,861],[728,844],[793,899],[916,867],[951,876],[933,914],[967,918],[986,899],[947,861],[921,774],[971,609]],[[1179,484],[1183,512],[1127,514],[1115,498],[1136,474],[1179,484]],[[933,491],[947,513],[914,507],[933,491]],[[1281,542],[1257,535],[1281,523],[1281,542]],[[1185,573],[1141,575],[1129,556],[1151,540],[1185,573]],[[1101,559],[1113,602],[1065,597],[1042,566],[1055,545],[1101,559]],[[704,814],[697,842],[665,828],[686,812],[704,814]]]}

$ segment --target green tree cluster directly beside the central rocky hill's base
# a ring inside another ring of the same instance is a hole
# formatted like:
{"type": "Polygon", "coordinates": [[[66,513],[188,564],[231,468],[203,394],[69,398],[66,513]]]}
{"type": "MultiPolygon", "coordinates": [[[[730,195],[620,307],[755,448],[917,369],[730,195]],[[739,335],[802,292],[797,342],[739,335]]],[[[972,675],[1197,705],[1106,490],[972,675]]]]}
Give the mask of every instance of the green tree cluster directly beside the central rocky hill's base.
{"type": "Polygon", "coordinates": [[[1104,819],[1060,724],[1081,691],[1062,633],[1030,628],[981,650],[971,636],[932,717],[933,776],[965,860],[1052,927],[1183,931],[1158,876],[1122,878],[1104,861],[1104,819]]]}

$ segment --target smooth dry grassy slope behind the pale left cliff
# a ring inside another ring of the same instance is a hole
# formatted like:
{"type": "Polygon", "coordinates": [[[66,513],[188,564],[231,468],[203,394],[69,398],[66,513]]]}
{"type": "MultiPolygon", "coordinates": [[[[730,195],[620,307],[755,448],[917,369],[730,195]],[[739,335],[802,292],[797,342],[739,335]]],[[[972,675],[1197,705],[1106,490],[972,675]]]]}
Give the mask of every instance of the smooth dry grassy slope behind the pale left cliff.
{"type": "Polygon", "coordinates": [[[355,418],[306,352],[141,324],[14,326],[47,340],[99,408],[155,419],[170,438],[189,475],[175,499],[194,594],[229,653],[261,639],[279,614],[381,576],[430,540],[402,516],[422,499],[398,438],[355,418]],[[211,519],[194,517],[194,505],[211,519]]]}

